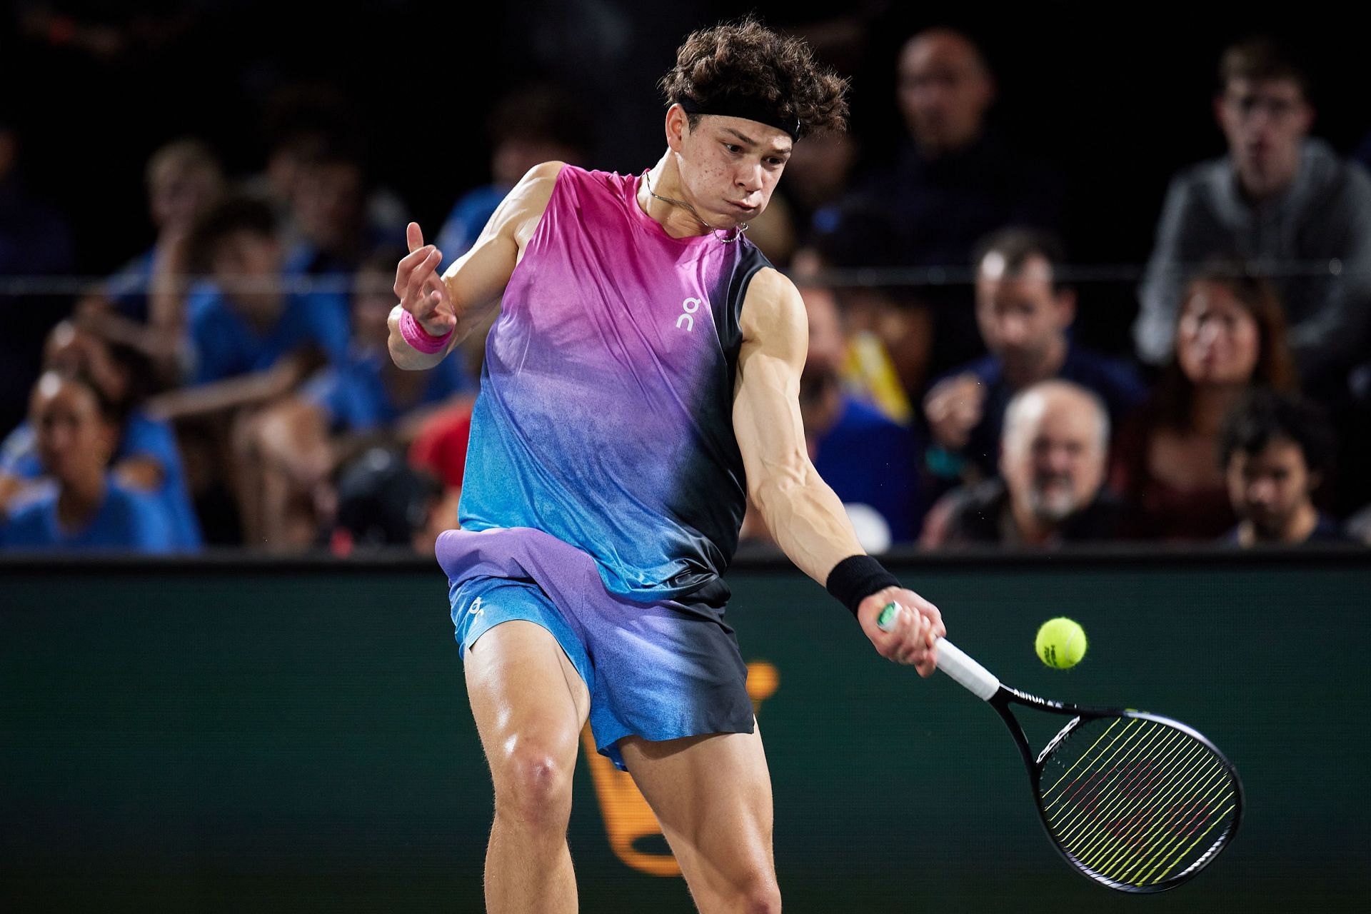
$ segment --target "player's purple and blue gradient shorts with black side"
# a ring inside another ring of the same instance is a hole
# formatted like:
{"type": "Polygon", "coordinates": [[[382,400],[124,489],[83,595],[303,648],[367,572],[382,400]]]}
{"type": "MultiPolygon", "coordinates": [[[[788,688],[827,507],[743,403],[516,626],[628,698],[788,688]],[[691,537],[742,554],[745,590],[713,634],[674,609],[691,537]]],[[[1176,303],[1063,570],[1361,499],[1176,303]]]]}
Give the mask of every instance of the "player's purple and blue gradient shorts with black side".
{"type": "Polygon", "coordinates": [[[436,551],[462,655],[500,622],[551,632],[590,692],[595,747],[620,769],[625,736],[753,732],[747,665],[721,608],[610,593],[595,559],[529,528],[448,530],[436,551]]]}

